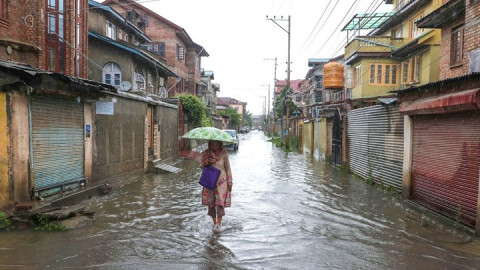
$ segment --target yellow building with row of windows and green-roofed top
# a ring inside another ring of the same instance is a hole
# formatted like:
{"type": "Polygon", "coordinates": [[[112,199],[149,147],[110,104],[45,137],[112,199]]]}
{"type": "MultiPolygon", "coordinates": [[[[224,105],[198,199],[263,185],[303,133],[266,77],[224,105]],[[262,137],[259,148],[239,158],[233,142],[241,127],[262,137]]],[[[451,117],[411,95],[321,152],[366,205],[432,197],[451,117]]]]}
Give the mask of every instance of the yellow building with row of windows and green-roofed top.
{"type": "Polygon", "coordinates": [[[426,84],[439,78],[440,30],[416,22],[441,1],[394,0],[393,12],[356,15],[343,30],[372,30],[356,35],[345,47],[347,87],[352,99],[391,95],[389,91],[426,84]]]}

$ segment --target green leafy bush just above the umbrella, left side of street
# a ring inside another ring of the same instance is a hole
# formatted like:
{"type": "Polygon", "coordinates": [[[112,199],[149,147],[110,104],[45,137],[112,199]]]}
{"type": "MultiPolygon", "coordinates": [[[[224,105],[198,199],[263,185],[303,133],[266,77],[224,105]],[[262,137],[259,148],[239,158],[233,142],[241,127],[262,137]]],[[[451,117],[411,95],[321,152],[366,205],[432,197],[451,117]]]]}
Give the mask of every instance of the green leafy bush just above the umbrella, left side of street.
{"type": "Polygon", "coordinates": [[[212,118],[207,116],[208,109],[203,102],[194,95],[178,96],[182,102],[183,110],[193,121],[195,127],[211,127],[213,126],[212,118]]]}

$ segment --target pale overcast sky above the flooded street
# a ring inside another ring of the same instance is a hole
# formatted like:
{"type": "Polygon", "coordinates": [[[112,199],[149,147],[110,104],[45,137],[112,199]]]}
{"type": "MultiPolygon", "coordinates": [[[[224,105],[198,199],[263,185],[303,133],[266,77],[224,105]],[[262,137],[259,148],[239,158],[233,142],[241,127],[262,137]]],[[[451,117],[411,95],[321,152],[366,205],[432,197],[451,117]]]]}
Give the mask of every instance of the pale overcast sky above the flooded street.
{"type": "MultiPolygon", "coordinates": [[[[287,78],[287,33],[266,16],[291,16],[291,75],[304,79],[309,58],[343,54],[343,26],[357,13],[386,12],[384,0],[139,0],[139,3],[183,27],[210,54],[202,67],[212,70],[221,97],[247,102],[253,114],[272,98],[277,79],[287,78]],[[378,7],[378,8],[377,8],[378,7]],[[322,16],[323,14],[323,16],[322,16]]],[[[288,30],[287,21],[277,21],[288,30]]]]}

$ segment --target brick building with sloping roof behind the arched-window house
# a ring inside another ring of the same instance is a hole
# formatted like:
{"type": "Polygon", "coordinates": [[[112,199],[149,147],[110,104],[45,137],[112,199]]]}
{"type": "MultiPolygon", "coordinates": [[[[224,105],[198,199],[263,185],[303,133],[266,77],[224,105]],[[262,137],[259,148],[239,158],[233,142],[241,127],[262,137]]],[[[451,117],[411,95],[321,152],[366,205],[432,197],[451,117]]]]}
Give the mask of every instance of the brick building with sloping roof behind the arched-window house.
{"type": "Polygon", "coordinates": [[[169,97],[180,93],[197,94],[202,83],[201,57],[209,54],[190,38],[185,29],[133,0],[107,0],[103,4],[111,6],[144,31],[152,39],[149,50],[180,76],[179,79],[168,79],[169,97]]]}

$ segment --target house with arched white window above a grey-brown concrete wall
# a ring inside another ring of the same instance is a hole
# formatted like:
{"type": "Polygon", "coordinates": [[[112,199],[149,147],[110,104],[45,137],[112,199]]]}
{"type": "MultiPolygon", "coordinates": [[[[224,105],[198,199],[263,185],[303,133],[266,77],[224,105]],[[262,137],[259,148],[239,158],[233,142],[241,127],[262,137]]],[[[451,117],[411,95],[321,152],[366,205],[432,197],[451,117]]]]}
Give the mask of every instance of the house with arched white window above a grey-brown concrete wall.
{"type": "Polygon", "coordinates": [[[109,6],[89,5],[89,78],[117,89],[94,105],[93,172],[100,180],[177,155],[178,107],[161,101],[165,82],[177,75],[148,51],[151,39],[136,25],[109,6]]]}

